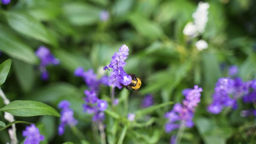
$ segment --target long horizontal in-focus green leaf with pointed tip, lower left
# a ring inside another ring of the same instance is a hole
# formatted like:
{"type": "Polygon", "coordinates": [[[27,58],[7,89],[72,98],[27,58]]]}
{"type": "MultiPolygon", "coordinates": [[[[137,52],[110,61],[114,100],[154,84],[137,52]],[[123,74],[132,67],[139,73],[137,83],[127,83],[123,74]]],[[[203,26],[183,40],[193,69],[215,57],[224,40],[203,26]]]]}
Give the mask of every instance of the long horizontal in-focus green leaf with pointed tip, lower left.
{"type": "Polygon", "coordinates": [[[14,116],[60,116],[58,111],[56,111],[54,108],[39,101],[12,101],[3,108],[0,108],[0,111],[5,111],[14,116]]]}

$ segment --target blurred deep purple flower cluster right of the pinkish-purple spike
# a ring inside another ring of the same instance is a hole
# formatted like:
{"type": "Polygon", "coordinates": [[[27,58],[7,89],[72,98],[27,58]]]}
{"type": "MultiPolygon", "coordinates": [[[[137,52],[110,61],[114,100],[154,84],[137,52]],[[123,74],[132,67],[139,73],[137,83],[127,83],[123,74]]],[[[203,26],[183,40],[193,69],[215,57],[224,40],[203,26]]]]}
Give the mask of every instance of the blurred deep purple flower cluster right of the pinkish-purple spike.
{"type": "Polygon", "coordinates": [[[208,111],[218,114],[224,107],[237,108],[237,99],[249,92],[249,84],[240,78],[223,77],[216,83],[214,91],[213,102],[208,106],[208,111]]]}

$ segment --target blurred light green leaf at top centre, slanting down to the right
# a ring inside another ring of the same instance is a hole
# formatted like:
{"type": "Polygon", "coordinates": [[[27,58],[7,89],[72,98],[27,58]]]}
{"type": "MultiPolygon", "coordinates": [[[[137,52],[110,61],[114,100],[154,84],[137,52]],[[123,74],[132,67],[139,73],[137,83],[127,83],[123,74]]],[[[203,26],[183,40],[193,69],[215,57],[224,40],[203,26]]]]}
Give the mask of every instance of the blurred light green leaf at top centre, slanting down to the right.
{"type": "Polygon", "coordinates": [[[164,33],[160,25],[144,18],[140,13],[133,13],[128,17],[128,21],[135,27],[135,29],[144,37],[156,39],[161,37],[164,33]]]}

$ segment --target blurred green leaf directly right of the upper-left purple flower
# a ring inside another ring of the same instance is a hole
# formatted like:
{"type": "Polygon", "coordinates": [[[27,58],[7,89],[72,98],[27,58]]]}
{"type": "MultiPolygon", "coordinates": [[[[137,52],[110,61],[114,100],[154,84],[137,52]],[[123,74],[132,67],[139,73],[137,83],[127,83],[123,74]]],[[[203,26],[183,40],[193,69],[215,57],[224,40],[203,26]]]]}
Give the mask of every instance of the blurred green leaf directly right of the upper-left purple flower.
{"type": "Polygon", "coordinates": [[[83,67],[85,70],[91,68],[89,60],[80,54],[74,54],[61,49],[55,49],[53,50],[53,53],[60,59],[60,64],[71,73],[74,73],[74,70],[77,67],[83,67]]]}

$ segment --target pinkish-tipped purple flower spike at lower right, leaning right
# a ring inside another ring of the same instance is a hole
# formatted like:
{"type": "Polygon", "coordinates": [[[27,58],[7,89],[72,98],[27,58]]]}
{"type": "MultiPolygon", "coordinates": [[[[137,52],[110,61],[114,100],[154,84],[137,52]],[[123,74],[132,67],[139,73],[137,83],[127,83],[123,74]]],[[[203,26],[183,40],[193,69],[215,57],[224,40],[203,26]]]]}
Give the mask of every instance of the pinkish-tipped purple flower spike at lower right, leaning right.
{"type": "Polygon", "coordinates": [[[185,89],[182,93],[185,99],[182,104],[177,103],[174,105],[173,110],[165,113],[165,118],[168,122],[165,124],[165,132],[169,133],[174,129],[178,129],[180,125],[185,125],[188,128],[193,127],[193,116],[195,107],[200,102],[202,88],[194,86],[194,89],[185,89]]]}

